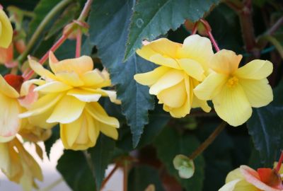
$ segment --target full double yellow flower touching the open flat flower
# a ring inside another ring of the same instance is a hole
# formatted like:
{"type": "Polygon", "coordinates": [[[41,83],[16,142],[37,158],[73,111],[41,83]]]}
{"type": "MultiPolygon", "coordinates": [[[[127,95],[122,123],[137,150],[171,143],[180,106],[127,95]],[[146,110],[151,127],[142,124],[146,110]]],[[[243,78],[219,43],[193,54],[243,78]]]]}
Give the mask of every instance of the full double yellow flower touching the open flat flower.
{"type": "Polygon", "coordinates": [[[161,38],[144,45],[137,54],[161,65],[154,71],[134,75],[134,79],[150,87],[149,93],[163,103],[163,110],[173,117],[185,117],[191,108],[197,107],[210,111],[207,102],[193,93],[193,88],[208,74],[208,62],[213,55],[207,37],[190,35],[183,45],[161,38]]]}

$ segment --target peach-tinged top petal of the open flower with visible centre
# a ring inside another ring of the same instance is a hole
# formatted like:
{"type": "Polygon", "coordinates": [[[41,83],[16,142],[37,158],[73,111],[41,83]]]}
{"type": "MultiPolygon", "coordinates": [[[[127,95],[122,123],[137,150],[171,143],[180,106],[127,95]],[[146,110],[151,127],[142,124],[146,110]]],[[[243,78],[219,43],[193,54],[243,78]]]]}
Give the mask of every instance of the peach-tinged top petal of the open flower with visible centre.
{"type": "Polygon", "coordinates": [[[238,69],[242,55],[236,55],[231,50],[220,50],[216,52],[209,62],[209,67],[220,74],[233,74],[238,69]]]}

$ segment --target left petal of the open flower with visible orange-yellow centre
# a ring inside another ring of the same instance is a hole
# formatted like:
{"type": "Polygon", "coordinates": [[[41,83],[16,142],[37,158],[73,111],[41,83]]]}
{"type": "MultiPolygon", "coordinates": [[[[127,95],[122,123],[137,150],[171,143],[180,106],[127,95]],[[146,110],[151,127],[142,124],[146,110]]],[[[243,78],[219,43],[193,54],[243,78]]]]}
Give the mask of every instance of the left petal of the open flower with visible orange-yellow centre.
{"type": "Polygon", "coordinates": [[[224,74],[209,74],[202,83],[195,87],[195,96],[200,100],[212,100],[221,91],[227,80],[228,76],[224,74]]]}

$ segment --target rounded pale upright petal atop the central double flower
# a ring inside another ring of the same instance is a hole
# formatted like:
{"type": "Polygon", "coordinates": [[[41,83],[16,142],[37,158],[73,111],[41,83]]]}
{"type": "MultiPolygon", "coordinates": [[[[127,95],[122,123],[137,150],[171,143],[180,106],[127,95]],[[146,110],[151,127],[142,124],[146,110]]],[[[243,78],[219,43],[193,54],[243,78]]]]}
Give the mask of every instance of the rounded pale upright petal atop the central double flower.
{"type": "Polygon", "coordinates": [[[209,60],[213,56],[212,42],[207,37],[190,35],[178,50],[178,57],[195,60],[207,71],[209,60]]]}

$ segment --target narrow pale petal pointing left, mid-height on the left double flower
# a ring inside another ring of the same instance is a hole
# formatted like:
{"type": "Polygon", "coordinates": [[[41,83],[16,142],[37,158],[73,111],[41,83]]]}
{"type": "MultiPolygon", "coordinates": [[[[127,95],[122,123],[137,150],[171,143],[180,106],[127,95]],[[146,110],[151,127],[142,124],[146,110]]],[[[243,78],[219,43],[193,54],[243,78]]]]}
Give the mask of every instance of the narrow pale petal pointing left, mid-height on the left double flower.
{"type": "Polygon", "coordinates": [[[40,91],[43,93],[57,93],[67,91],[71,88],[71,86],[68,86],[67,84],[62,83],[60,81],[50,81],[41,86],[37,86],[34,91],[40,91]]]}

